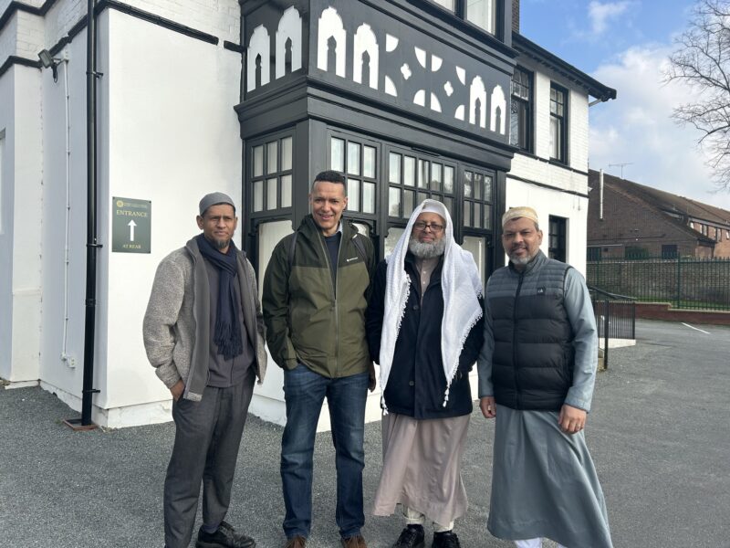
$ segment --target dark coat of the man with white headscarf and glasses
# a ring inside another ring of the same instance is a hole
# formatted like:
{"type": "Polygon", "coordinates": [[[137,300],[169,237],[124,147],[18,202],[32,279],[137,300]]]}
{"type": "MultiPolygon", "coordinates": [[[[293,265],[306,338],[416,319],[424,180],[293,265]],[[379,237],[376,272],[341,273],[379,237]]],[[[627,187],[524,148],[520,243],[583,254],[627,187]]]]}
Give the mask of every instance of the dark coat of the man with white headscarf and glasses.
{"type": "MultiPolygon", "coordinates": [[[[472,412],[469,371],[474,366],[484,342],[484,317],[474,325],[464,342],[459,369],[449,391],[449,401],[443,406],[446,391],[446,376],[443,374],[441,358],[443,261],[433,270],[421,304],[420,277],[413,260],[412,254],[408,253],[405,269],[411,279],[411,290],[395,343],[391,374],[383,394],[385,405],[391,413],[418,419],[468,415],[472,412]]],[[[368,308],[370,358],[376,363],[379,362],[381,352],[387,270],[387,263],[381,261],[375,272],[368,308]]],[[[479,302],[484,306],[482,300],[479,302]]]]}

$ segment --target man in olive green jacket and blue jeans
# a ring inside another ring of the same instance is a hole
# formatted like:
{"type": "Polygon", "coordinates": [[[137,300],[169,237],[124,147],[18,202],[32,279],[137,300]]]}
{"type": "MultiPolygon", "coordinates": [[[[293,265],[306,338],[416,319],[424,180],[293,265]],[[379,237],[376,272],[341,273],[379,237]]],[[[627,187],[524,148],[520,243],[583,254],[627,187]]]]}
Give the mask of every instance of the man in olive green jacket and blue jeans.
{"type": "Polygon", "coordinates": [[[362,448],[367,390],[374,371],[365,338],[370,239],[341,220],[345,180],[318,174],[309,194],[311,215],[274,249],[264,279],[266,342],[284,368],[287,426],[281,441],[281,479],[287,510],[287,548],[303,548],[311,528],[312,455],[325,397],[337,453],[337,515],[341,543],[364,548],[360,529],[362,448]]]}

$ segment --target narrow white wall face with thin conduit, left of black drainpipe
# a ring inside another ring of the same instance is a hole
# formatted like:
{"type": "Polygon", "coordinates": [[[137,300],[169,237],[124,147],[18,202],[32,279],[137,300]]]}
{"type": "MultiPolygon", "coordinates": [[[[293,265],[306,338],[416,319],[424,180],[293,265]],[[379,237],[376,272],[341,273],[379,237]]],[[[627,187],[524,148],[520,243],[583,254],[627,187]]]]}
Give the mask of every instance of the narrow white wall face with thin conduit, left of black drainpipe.
{"type": "Polygon", "coordinates": [[[43,79],[43,338],[40,378],[49,389],[80,409],[84,357],[84,299],[86,297],[86,31],[65,47],[68,63],[43,79]],[[67,120],[68,80],[68,172],[67,120]],[[68,290],[65,283],[66,207],[68,224],[68,290]],[[64,300],[68,292],[66,351],[75,367],[61,360],[64,349],[64,300]],[[74,399],[78,398],[78,402],[74,399]]]}

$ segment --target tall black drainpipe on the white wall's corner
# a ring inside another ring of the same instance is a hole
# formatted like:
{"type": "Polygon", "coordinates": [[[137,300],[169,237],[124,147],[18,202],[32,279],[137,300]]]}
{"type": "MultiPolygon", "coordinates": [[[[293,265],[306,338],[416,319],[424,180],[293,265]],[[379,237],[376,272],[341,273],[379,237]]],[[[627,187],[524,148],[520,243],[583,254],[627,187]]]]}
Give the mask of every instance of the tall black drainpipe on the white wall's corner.
{"type": "Polygon", "coordinates": [[[89,0],[86,46],[86,142],[87,142],[87,243],[86,243],[86,321],[84,327],[84,384],[81,399],[81,425],[91,422],[91,396],[99,390],[94,384],[94,350],[97,307],[97,27],[94,8],[89,0]]]}

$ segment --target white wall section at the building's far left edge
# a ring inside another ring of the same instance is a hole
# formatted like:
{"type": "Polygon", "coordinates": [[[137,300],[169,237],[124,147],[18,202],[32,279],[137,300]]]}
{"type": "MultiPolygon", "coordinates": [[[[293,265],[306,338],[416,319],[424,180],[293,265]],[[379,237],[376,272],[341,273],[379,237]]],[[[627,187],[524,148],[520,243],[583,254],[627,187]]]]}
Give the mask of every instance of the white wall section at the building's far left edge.
{"type": "Polygon", "coordinates": [[[0,376],[36,382],[40,341],[40,74],[14,66],[0,78],[4,132],[0,227],[0,376]],[[22,122],[21,122],[22,121],[22,122]]]}

